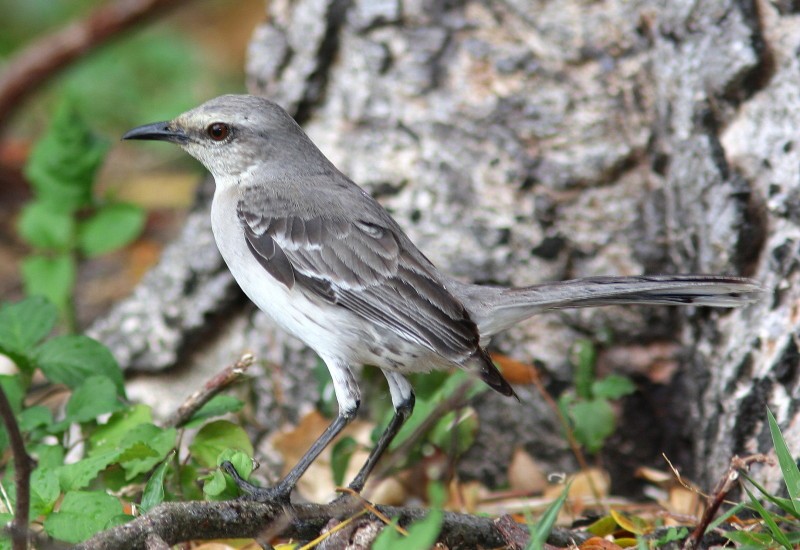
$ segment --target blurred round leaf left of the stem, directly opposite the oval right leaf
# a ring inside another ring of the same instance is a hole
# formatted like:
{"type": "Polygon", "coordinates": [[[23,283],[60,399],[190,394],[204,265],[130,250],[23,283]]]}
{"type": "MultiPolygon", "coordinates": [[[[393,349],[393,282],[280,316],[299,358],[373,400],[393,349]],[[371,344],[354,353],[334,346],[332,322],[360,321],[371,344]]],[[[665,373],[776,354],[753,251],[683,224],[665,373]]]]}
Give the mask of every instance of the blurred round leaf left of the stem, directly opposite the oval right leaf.
{"type": "Polygon", "coordinates": [[[68,252],[75,238],[75,219],[49,202],[34,201],[23,208],[17,230],[31,246],[68,252]]]}

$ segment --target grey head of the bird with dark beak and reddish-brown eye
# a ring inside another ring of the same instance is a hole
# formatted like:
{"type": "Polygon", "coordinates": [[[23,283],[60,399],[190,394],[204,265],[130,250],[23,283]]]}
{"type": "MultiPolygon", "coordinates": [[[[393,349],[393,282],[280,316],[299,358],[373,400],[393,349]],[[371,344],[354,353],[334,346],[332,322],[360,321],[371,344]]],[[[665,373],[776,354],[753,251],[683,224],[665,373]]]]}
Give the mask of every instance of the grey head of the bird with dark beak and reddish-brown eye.
{"type": "Polygon", "coordinates": [[[280,177],[302,174],[320,157],[328,164],[286,111],[250,95],[214,98],[170,121],[134,128],[122,139],[176,143],[203,163],[217,185],[236,184],[251,170],[280,177]]]}

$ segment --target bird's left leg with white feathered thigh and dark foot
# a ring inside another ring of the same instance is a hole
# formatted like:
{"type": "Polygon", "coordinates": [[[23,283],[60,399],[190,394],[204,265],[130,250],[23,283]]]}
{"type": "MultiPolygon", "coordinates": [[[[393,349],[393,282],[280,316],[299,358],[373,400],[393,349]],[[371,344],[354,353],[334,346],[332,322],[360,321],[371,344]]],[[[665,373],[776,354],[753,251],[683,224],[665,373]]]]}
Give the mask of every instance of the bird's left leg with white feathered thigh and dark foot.
{"type": "Polygon", "coordinates": [[[337,401],[339,401],[339,414],[333,422],[322,432],[311,448],[305,452],[295,466],[286,474],[273,487],[258,487],[252,483],[244,480],[230,462],[224,463],[222,466],[226,472],[232,477],[236,485],[244,493],[248,500],[255,500],[258,502],[266,502],[269,500],[289,500],[292,489],[297,485],[298,480],[302,477],[312,462],[319,456],[319,454],[330,445],[331,441],[339,435],[339,433],[347,426],[355,417],[358,412],[358,407],[361,404],[361,394],[356,385],[355,378],[350,372],[349,367],[337,363],[327,363],[328,370],[333,377],[333,388],[336,392],[337,401]],[[335,365],[332,367],[331,365],[335,365]]]}

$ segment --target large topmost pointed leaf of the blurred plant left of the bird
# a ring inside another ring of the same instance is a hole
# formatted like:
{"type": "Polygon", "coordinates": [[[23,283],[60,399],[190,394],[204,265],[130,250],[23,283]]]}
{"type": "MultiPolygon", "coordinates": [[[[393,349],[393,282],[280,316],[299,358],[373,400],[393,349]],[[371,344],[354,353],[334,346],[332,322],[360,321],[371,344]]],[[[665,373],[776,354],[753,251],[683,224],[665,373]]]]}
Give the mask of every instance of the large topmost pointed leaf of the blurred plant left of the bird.
{"type": "Polygon", "coordinates": [[[90,206],[95,173],[107,150],[107,142],[95,136],[65,100],[31,151],[25,176],[40,201],[63,211],[90,206]]]}

